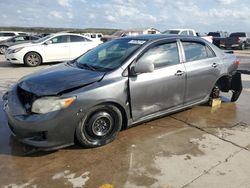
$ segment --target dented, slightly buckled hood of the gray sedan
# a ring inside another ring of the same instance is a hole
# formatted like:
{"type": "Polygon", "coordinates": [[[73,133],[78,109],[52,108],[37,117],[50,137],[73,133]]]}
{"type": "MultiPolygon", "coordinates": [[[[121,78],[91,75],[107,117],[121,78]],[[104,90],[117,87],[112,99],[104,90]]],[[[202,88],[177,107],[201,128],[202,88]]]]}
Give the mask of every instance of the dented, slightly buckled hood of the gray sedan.
{"type": "Polygon", "coordinates": [[[18,86],[37,96],[52,96],[100,81],[104,74],[65,63],[25,76],[18,86]]]}

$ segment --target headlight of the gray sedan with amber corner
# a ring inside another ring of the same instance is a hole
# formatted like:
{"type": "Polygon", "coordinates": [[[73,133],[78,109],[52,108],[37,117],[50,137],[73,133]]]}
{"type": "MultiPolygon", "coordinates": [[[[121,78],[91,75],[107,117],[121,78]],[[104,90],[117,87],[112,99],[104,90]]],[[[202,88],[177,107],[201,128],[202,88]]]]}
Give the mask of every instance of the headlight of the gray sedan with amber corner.
{"type": "Polygon", "coordinates": [[[33,102],[31,111],[38,114],[45,114],[48,112],[53,112],[61,110],[63,108],[69,107],[76,97],[70,98],[59,98],[59,97],[42,97],[33,102]]]}

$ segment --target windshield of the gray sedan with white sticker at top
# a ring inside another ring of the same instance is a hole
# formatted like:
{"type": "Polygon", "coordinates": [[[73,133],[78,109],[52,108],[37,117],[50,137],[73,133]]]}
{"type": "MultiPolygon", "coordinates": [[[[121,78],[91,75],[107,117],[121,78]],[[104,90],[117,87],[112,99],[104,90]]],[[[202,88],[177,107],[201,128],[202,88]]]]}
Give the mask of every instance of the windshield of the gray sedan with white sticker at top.
{"type": "Polygon", "coordinates": [[[76,60],[76,64],[78,67],[96,71],[114,70],[145,42],[137,39],[113,40],[85,53],[76,60]]]}

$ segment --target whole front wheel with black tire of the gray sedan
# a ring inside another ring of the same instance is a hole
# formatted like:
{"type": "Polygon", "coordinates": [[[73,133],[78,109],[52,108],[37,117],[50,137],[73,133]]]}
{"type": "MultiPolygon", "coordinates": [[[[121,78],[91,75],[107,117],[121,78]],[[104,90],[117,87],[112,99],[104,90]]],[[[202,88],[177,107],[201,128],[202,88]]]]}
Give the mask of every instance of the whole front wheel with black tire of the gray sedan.
{"type": "Polygon", "coordinates": [[[98,105],[90,110],[76,128],[78,143],[87,148],[112,142],[122,128],[122,114],[113,105],[98,105]]]}

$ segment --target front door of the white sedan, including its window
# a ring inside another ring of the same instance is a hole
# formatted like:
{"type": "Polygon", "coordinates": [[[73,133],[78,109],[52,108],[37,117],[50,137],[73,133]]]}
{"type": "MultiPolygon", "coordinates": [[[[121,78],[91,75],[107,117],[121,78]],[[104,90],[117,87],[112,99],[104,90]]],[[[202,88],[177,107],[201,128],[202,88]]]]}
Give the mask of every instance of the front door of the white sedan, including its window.
{"type": "Polygon", "coordinates": [[[60,35],[52,39],[52,44],[44,44],[45,61],[69,60],[69,35],[60,35]]]}

